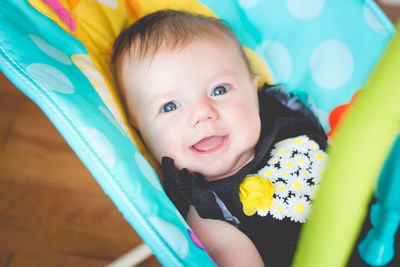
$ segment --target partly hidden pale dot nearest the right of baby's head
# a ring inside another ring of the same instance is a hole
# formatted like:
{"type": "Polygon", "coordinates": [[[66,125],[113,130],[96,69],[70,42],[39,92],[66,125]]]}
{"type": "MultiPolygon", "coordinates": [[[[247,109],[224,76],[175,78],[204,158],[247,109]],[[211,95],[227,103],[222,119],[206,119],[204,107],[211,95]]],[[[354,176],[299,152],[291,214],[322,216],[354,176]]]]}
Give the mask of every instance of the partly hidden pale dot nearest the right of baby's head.
{"type": "Polygon", "coordinates": [[[284,83],[289,80],[292,73],[292,59],[285,46],[276,41],[264,41],[256,48],[256,51],[274,70],[275,83],[284,83]]]}

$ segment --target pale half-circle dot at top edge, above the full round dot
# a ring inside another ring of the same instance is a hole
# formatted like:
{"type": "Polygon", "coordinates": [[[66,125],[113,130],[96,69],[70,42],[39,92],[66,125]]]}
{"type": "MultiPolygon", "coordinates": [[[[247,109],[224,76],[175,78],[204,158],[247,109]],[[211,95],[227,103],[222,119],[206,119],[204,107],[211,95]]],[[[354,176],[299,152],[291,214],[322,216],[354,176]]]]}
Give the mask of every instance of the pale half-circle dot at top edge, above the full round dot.
{"type": "Polygon", "coordinates": [[[315,18],[324,7],[325,0],[286,0],[289,12],[297,19],[315,18]]]}

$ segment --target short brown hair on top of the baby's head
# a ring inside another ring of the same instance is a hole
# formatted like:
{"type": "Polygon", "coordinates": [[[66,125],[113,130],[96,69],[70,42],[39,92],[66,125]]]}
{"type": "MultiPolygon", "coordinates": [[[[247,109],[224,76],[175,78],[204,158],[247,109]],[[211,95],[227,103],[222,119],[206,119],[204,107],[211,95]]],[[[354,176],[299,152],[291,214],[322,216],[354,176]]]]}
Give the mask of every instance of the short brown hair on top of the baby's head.
{"type": "Polygon", "coordinates": [[[151,13],[123,30],[114,42],[112,63],[115,66],[118,57],[126,50],[132,56],[132,46],[135,59],[141,61],[154,57],[161,48],[172,50],[184,47],[196,38],[216,38],[221,34],[236,43],[249,73],[253,74],[239,40],[226,24],[213,17],[176,10],[151,13]]]}

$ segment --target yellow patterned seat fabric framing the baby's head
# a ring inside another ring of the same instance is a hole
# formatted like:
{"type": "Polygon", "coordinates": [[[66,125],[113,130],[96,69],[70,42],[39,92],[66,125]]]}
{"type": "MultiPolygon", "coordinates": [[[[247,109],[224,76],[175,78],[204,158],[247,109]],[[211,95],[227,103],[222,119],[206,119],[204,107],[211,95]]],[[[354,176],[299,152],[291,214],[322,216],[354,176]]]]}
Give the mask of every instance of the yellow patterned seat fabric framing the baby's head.
{"type": "MultiPolygon", "coordinates": [[[[86,47],[87,55],[74,55],[74,64],[86,75],[121,127],[135,143],[142,155],[159,173],[159,167],[144,147],[139,135],[132,130],[125,116],[114,86],[110,69],[112,44],[118,34],[137,18],[161,9],[177,9],[207,16],[216,15],[197,0],[59,0],[73,18],[76,30],[72,31],[42,0],[29,3],[42,14],[56,22],[64,31],[75,36],[86,47]]],[[[265,63],[250,49],[246,54],[260,75],[260,83],[272,81],[265,63]]]]}

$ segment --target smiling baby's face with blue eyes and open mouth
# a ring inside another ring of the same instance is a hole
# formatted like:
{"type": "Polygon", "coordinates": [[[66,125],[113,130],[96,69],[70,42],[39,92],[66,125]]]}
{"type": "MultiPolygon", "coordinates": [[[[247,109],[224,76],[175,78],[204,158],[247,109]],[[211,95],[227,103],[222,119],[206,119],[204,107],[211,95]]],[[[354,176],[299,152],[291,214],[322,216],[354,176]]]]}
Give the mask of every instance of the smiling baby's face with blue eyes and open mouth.
{"type": "Polygon", "coordinates": [[[159,162],[217,180],[254,157],[258,78],[231,40],[195,40],[139,64],[124,55],[120,69],[132,123],[159,162]]]}

